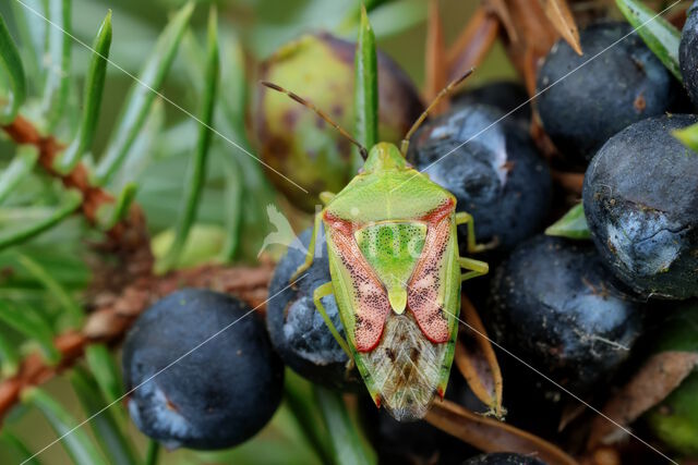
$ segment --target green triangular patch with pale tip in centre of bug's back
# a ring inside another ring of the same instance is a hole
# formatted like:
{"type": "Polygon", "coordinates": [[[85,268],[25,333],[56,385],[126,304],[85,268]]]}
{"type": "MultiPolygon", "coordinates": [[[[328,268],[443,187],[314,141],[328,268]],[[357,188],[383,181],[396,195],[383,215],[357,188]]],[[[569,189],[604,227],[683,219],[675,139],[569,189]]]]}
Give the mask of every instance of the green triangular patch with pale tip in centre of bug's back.
{"type": "Polygon", "coordinates": [[[393,309],[401,314],[407,305],[407,282],[424,248],[426,224],[383,222],[354,233],[359,249],[381,277],[393,309]]]}

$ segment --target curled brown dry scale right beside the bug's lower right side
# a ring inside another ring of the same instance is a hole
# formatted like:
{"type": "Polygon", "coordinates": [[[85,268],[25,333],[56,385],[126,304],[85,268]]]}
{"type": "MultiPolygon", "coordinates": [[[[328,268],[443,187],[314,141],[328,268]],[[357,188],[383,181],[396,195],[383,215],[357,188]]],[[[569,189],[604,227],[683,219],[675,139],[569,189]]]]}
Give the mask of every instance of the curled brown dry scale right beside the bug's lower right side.
{"type": "Polygon", "coordinates": [[[465,322],[474,331],[461,331],[456,344],[456,366],[476,396],[490,407],[497,418],[502,418],[504,408],[500,364],[478,311],[465,295],[461,307],[465,322]]]}

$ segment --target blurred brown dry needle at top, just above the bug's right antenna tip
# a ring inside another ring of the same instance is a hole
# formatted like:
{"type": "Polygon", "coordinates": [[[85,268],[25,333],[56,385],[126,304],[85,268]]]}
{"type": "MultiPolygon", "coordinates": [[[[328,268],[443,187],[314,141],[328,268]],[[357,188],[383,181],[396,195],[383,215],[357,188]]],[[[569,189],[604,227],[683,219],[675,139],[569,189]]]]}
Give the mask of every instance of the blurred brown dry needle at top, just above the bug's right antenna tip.
{"type": "Polygon", "coordinates": [[[488,56],[500,34],[500,22],[483,7],[462,29],[454,45],[448,49],[448,81],[462,76],[471,68],[479,66],[488,56]]]}

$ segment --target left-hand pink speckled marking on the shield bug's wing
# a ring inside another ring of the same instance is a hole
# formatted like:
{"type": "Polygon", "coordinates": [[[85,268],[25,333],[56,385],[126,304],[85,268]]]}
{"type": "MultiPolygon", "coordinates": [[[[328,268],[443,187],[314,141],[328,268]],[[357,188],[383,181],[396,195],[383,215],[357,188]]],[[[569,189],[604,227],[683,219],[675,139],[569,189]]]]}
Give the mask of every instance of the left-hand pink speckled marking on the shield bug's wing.
{"type": "Polygon", "coordinates": [[[387,292],[359,249],[351,223],[325,213],[327,230],[335,245],[335,252],[351,277],[357,298],[354,308],[356,348],[359,352],[373,351],[383,335],[385,320],[390,313],[387,292]]]}

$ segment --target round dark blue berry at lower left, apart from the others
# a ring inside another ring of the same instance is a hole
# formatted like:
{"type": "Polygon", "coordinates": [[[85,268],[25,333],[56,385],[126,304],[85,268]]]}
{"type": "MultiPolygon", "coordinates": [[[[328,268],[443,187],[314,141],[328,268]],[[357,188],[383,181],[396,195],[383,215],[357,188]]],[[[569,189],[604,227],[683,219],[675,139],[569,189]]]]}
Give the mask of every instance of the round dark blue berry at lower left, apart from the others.
{"type": "Polygon", "coordinates": [[[168,448],[224,449],[250,439],[276,412],[284,384],[284,365],[257,315],[234,297],[193,289],[139,317],[123,346],[123,374],[125,389],[135,388],[133,423],[168,448]]]}

